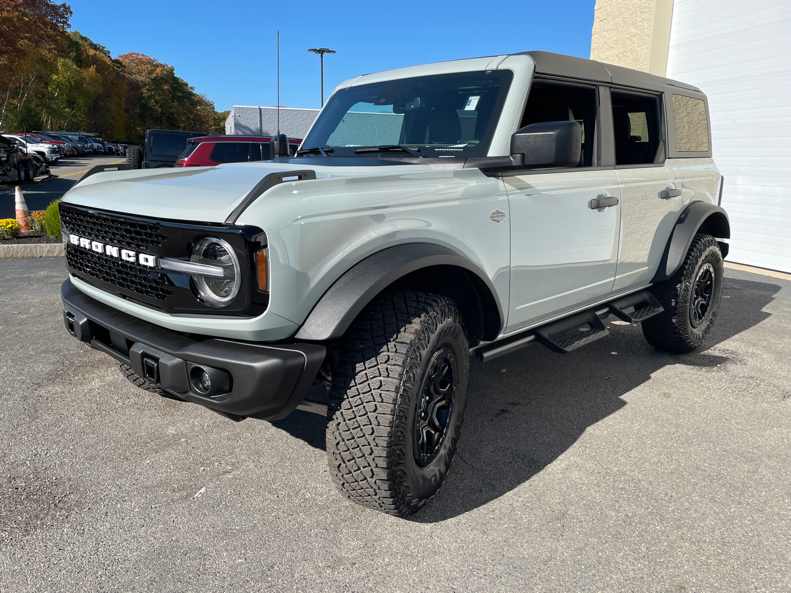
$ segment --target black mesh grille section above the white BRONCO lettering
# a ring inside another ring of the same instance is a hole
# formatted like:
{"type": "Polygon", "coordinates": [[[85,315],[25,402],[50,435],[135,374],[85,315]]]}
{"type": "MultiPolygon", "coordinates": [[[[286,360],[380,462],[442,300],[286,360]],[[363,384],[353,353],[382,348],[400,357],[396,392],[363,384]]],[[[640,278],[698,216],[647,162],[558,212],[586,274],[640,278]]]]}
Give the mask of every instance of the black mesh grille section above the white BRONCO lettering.
{"type": "Polygon", "coordinates": [[[167,240],[159,232],[156,222],[135,221],[112,214],[70,208],[62,208],[60,218],[62,225],[75,235],[90,237],[105,244],[128,247],[134,251],[156,254],[162,241],[167,240]]]}

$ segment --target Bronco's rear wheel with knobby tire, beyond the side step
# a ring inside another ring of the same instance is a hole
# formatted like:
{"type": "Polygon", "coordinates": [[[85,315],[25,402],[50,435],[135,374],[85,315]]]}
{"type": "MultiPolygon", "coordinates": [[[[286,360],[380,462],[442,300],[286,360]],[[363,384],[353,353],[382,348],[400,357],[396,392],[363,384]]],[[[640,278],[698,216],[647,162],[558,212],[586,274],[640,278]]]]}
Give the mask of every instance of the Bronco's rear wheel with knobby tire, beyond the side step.
{"type": "Polygon", "coordinates": [[[692,352],[700,346],[717,319],[722,278],[717,240],[695,235],[679,271],[650,288],[664,312],[642,322],[649,344],[672,353],[692,352]]]}

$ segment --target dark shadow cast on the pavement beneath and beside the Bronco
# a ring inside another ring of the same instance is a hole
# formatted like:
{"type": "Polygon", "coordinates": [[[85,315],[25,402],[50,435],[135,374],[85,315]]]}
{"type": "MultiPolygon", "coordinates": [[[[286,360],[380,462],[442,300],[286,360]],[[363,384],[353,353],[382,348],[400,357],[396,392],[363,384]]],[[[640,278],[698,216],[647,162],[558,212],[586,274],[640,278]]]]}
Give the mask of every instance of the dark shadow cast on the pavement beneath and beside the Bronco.
{"type": "MultiPolygon", "coordinates": [[[[487,364],[473,362],[464,430],[452,470],[437,496],[409,519],[451,519],[527,482],[585,429],[626,406],[622,396],[660,368],[740,364],[737,353],[717,345],[768,318],[770,313],[762,309],[779,289],[770,283],[725,278],[713,332],[702,349],[691,354],[673,355],[649,346],[638,325],[607,323],[610,336],[570,354],[530,346],[487,364]]],[[[273,424],[324,449],[323,417],[297,410],[273,424]]]]}

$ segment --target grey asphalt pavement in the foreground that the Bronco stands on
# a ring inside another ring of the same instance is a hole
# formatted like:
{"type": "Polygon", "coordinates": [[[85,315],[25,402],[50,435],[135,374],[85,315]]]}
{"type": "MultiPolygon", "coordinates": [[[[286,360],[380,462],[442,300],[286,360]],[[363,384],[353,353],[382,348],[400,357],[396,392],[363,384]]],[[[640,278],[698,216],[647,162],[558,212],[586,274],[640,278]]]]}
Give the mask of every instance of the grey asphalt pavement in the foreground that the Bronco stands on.
{"type": "MultiPolygon", "coordinates": [[[[791,281],[727,270],[704,349],[639,327],[471,370],[441,493],[339,497],[324,421],[133,387],[0,259],[0,591],[789,591],[791,281]]],[[[611,318],[612,319],[612,318],[611,318]]]]}

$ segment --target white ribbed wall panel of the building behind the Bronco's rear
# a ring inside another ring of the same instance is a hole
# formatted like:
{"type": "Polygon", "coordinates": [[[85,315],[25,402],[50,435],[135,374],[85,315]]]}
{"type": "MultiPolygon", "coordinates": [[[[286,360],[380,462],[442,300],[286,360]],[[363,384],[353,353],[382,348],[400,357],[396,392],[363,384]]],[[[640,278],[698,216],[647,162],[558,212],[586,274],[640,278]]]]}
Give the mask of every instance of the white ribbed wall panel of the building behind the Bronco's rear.
{"type": "Polygon", "coordinates": [[[791,2],[676,0],[667,76],[709,97],[728,259],[791,272],[791,2]]]}

